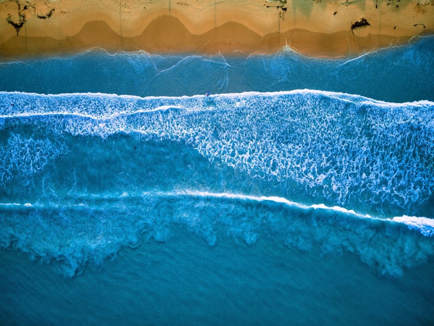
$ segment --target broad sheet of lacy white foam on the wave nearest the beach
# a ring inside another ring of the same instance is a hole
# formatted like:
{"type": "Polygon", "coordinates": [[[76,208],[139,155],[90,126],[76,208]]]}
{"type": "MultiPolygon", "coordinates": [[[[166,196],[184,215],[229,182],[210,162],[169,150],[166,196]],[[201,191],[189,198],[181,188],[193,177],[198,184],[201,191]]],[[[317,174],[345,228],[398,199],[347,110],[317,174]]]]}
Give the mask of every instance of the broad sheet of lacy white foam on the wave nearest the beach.
{"type": "Polygon", "coordinates": [[[211,161],[337,206],[357,201],[403,210],[434,190],[429,101],[396,104],[308,89],[208,99],[18,92],[0,98],[3,121],[44,122],[58,134],[182,141],[211,161]]]}

